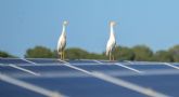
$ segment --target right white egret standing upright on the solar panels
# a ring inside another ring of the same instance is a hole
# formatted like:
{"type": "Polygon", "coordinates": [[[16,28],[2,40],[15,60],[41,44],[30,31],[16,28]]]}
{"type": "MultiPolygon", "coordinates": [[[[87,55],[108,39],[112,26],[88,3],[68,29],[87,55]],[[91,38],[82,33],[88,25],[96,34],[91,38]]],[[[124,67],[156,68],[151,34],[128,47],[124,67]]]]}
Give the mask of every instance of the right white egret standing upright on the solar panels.
{"type": "Polygon", "coordinates": [[[116,25],[115,22],[110,23],[110,39],[108,39],[107,44],[106,44],[106,56],[110,56],[110,60],[114,60],[113,52],[114,52],[115,46],[116,46],[116,39],[115,39],[115,34],[114,34],[114,26],[115,25],[116,25]],[[112,57],[113,57],[113,59],[112,59],[112,57]]]}

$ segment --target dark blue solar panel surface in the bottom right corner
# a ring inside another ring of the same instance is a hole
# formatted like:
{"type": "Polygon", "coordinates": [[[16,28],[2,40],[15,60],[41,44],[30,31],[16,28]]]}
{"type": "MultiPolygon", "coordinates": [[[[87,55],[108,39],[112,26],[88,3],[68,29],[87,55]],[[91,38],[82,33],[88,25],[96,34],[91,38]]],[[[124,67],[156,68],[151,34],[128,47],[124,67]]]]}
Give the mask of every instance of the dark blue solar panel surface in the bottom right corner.
{"type": "Polygon", "coordinates": [[[171,97],[179,96],[179,74],[177,75],[144,75],[144,77],[120,77],[131,83],[140,84],[171,97]]]}

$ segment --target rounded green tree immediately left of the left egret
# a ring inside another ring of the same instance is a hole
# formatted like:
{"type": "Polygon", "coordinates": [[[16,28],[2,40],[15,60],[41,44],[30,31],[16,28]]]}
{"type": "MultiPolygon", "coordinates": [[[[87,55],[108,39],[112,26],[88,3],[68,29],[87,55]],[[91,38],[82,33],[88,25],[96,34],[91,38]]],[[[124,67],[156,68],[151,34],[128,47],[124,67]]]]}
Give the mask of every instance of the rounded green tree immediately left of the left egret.
{"type": "Polygon", "coordinates": [[[35,46],[34,48],[28,48],[25,54],[26,58],[52,58],[53,52],[44,46],[35,46]]]}

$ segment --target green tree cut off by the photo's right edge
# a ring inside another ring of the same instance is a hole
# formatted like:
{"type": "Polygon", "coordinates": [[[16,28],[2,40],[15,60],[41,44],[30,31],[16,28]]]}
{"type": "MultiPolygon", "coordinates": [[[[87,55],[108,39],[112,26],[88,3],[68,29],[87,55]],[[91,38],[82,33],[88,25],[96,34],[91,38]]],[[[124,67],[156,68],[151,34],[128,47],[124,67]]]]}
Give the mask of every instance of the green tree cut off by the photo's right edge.
{"type": "Polygon", "coordinates": [[[169,48],[169,52],[172,55],[174,61],[179,61],[179,45],[169,48]]]}

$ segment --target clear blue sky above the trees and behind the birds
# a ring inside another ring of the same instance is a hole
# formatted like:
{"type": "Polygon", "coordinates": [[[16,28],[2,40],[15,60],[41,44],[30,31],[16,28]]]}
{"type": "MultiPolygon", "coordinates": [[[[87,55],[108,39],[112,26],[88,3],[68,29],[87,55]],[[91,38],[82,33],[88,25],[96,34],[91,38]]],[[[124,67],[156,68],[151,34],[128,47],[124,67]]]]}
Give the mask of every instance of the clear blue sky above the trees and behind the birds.
{"type": "Polygon", "coordinates": [[[67,19],[67,47],[105,51],[108,22],[117,44],[153,51],[179,44],[179,0],[0,0],[0,50],[23,57],[35,45],[56,48],[67,19]]]}

